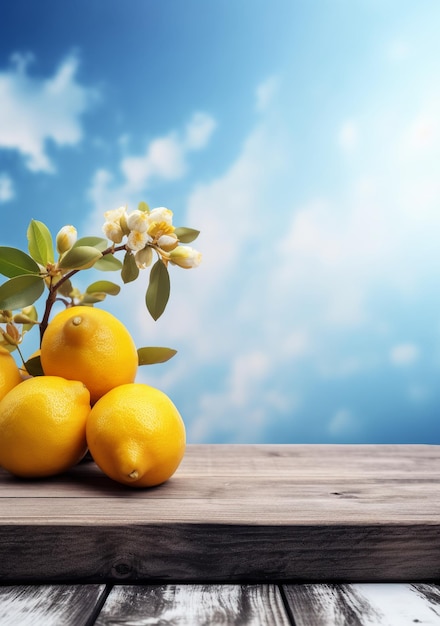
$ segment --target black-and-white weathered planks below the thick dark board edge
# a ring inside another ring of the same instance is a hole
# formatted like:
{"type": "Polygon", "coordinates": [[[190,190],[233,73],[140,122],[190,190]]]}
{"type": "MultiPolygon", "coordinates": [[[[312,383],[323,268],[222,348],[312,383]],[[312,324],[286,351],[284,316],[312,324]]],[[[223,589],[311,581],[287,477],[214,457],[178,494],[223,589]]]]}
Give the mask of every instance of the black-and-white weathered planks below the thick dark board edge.
{"type": "Polygon", "coordinates": [[[116,585],[108,591],[104,585],[0,587],[0,626],[440,625],[440,587],[426,583],[116,585]]]}

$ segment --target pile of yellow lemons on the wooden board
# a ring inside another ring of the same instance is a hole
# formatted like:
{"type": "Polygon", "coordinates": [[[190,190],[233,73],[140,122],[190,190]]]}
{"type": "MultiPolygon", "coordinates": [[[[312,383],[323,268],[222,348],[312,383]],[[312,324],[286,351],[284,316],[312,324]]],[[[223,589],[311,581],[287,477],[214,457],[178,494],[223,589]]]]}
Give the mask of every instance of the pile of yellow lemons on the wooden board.
{"type": "Polygon", "coordinates": [[[41,343],[44,376],[23,380],[0,348],[0,467],[20,477],[60,474],[90,451],[113,480],[168,480],[185,452],[184,422],[162,391],[136,383],[138,354],[107,311],[58,313],[41,343]]]}

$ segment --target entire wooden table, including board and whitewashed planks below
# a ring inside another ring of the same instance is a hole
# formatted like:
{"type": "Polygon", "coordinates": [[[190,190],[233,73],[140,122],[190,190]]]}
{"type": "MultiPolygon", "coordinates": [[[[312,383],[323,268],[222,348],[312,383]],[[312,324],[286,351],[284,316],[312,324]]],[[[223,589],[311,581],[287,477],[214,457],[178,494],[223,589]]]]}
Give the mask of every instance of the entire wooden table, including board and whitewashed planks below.
{"type": "Polygon", "coordinates": [[[440,447],[190,445],[164,485],[0,470],[0,625],[440,626],[440,447]]]}

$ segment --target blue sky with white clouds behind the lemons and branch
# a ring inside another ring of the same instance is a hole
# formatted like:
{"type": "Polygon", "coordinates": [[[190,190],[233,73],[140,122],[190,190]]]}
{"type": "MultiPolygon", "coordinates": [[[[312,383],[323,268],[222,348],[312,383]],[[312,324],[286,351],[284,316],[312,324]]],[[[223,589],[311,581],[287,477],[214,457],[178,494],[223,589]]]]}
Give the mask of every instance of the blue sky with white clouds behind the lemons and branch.
{"type": "Polygon", "coordinates": [[[166,206],[202,265],[171,269],[157,322],[147,274],[105,308],[178,349],[139,380],[189,441],[440,443],[439,19],[436,0],[0,2],[0,244],[166,206]]]}

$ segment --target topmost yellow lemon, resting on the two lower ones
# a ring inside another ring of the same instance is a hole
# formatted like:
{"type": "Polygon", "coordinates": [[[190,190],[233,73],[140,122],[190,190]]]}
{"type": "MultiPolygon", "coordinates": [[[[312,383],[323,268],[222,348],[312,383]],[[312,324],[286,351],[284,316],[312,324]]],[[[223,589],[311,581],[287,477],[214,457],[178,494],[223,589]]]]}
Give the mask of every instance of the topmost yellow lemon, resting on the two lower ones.
{"type": "Polygon", "coordinates": [[[46,375],[81,380],[93,404],[110,389],[134,381],[138,355],[130,333],[114,315],[74,306],[49,323],[41,365],[46,375]]]}

